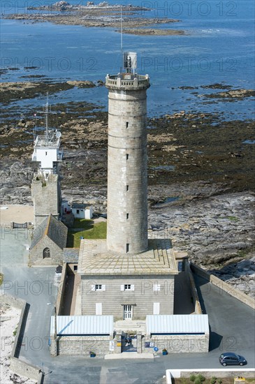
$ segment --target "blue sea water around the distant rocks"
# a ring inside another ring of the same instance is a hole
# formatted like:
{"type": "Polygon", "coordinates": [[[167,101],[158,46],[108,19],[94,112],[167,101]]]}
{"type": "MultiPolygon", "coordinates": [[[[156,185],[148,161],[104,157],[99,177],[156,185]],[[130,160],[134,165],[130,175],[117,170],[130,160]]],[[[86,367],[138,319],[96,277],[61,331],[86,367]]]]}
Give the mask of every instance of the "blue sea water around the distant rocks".
{"type": "MultiPolygon", "coordinates": [[[[77,0],[68,2],[78,3],[77,0]]],[[[1,14],[37,13],[27,7],[49,3],[43,0],[2,1],[1,14]]],[[[109,0],[108,3],[127,5],[131,1],[109,0]]],[[[205,98],[203,95],[221,89],[201,88],[201,85],[216,82],[230,85],[232,89],[254,88],[253,0],[133,1],[133,5],[153,8],[139,11],[136,17],[180,20],[160,26],[155,24],[154,28],[186,32],[184,36],[123,35],[124,51],[138,52],[138,73],[150,75],[149,116],[185,110],[213,112],[220,114],[222,119],[254,117],[254,97],[233,102],[205,98]]],[[[120,52],[120,34],[116,28],[1,20],[1,68],[7,69],[1,76],[2,82],[39,80],[28,77],[31,75],[43,75],[42,80],[59,82],[104,80],[107,73],[119,71],[120,52]]],[[[107,108],[104,87],[71,89],[54,96],[51,104],[87,101],[107,108]]],[[[12,103],[10,108],[34,108],[43,103],[43,97],[38,97],[12,103]]]]}

